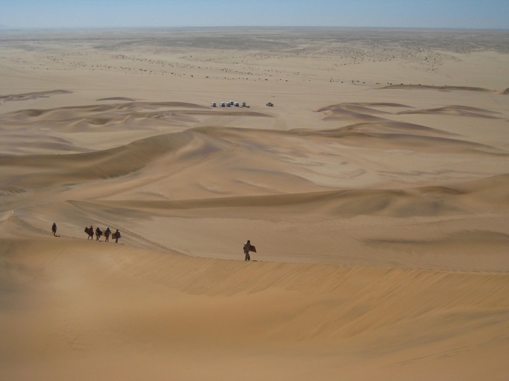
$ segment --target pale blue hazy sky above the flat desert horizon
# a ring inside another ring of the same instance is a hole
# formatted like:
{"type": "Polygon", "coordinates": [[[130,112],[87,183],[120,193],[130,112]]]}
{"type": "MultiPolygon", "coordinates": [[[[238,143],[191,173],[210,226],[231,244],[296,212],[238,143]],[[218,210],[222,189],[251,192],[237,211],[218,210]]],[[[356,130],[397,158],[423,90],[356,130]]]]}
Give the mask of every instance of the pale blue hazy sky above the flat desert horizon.
{"type": "Polygon", "coordinates": [[[0,0],[12,27],[509,28],[509,0],[0,0]]]}

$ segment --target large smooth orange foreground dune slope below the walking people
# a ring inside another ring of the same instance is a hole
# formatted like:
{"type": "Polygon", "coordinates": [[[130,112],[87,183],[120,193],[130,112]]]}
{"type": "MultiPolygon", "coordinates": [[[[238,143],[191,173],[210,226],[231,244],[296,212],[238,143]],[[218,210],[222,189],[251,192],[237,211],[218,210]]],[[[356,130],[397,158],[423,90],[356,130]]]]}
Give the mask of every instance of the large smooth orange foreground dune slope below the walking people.
{"type": "MultiPolygon", "coordinates": [[[[240,377],[253,352],[270,356],[257,355],[246,379],[267,371],[295,379],[340,373],[372,379],[373,372],[387,379],[415,373],[496,378],[504,369],[504,274],[265,262],[246,267],[61,240],[9,241],[12,259],[2,279],[12,291],[4,308],[15,301],[54,307],[22,331],[3,332],[10,348],[3,354],[6,377],[17,378],[16,359],[23,357],[32,364],[23,372],[27,378],[63,379],[71,374],[68,366],[80,370],[76,379],[97,372],[187,378],[198,376],[198,361],[208,369],[200,378],[215,379],[225,376],[224,366],[214,366],[224,356],[228,376],[240,377]],[[97,248],[91,252],[90,245],[97,248]],[[31,251],[43,255],[27,255],[31,251]],[[39,287],[31,291],[35,277],[39,287]],[[123,292],[111,283],[123,284],[123,292]],[[138,298],[143,308],[135,309],[138,298]],[[280,351],[285,356],[275,361],[280,351]],[[139,369],[149,358],[159,365],[139,369]],[[456,369],[458,363],[464,365],[456,369]]],[[[5,323],[13,320],[4,315],[5,323]]],[[[20,324],[25,320],[17,319],[20,324]]]]}

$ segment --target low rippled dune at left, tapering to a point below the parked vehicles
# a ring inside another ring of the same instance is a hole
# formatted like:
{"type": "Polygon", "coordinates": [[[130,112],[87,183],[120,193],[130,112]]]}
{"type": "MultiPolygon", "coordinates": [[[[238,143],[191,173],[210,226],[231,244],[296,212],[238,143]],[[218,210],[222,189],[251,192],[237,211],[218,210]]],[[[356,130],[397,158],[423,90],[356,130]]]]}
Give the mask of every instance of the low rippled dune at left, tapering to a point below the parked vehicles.
{"type": "MultiPolygon", "coordinates": [[[[265,113],[243,110],[219,113],[223,117],[271,117],[265,113]]],[[[152,136],[153,131],[181,131],[200,124],[201,118],[217,114],[208,107],[183,102],[133,102],[19,110],[0,115],[0,122],[5,136],[22,136],[24,141],[18,145],[4,141],[0,147],[4,153],[11,154],[57,153],[59,148],[62,152],[71,153],[92,151],[98,140],[100,146],[115,147],[133,141],[135,137],[152,136]],[[91,135],[93,132],[100,135],[91,135]],[[127,132],[138,134],[129,135],[127,132]],[[89,134],[91,140],[84,140],[76,133],[89,134]],[[55,134],[60,135],[60,142],[64,144],[55,145],[55,134]]]]}

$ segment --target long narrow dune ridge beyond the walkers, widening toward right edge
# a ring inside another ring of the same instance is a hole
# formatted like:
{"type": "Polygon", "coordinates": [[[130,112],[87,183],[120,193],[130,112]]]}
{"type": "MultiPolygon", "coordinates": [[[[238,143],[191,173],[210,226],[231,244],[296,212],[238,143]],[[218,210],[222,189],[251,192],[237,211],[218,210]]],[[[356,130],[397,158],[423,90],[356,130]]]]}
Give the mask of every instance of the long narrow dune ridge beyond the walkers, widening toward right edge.
{"type": "MultiPolygon", "coordinates": [[[[324,213],[334,216],[388,215],[404,218],[408,216],[443,216],[475,214],[472,201],[507,208],[509,200],[503,189],[509,186],[509,174],[498,175],[448,186],[423,186],[409,189],[345,189],[303,194],[268,196],[221,197],[196,200],[171,201],[95,201],[102,207],[115,206],[126,209],[202,209],[202,208],[257,208],[299,206],[302,213],[324,213]],[[496,183],[494,185],[493,183],[496,183]],[[500,192],[498,192],[500,191],[500,192]],[[486,192],[492,197],[486,198],[486,192]],[[496,197],[494,197],[496,195],[496,197]],[[465,203],[460,200],[466,199],[465,203]],[[459,200],[455,200],[459,199],[459,200]]],[[[82,204],[80,201],[69,201],[82,204]]],[[[89,208],[93,207],[89,204],[89,208]]],[[[83,204],[84,205],[84,204],[83,204]]]]}

